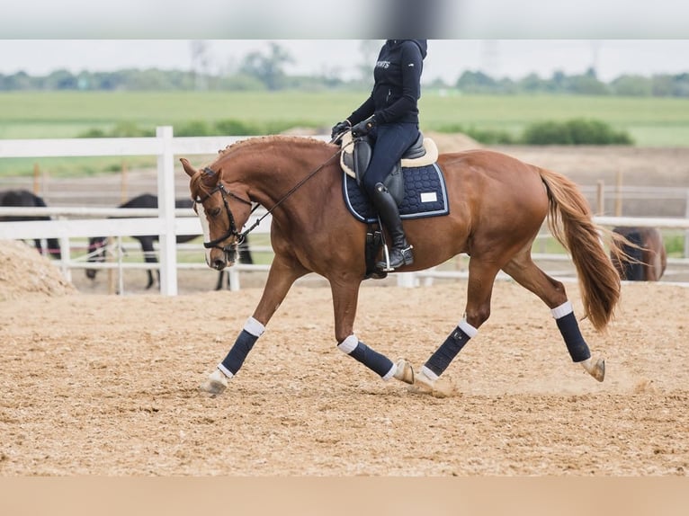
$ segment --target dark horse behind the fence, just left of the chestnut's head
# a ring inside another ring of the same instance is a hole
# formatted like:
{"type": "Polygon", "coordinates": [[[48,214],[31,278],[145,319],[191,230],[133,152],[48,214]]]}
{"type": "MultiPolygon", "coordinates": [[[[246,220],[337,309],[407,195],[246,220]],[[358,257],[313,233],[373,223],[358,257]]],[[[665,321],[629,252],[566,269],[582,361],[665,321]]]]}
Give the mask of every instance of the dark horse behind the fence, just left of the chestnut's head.
{"type": "MultiPolygon", "coordinates": [[[[144,193],[133,197],[127,202],[124,202],[119,206],[119,208],[157,208],[158,198],[156,195],[150,193],[144,193]]],[[[174,200],[175,208],[192,208],[193,201],[189,198],[182,198],[174,200]]],[[[198,235],[181,235],[177,236],[177,244],[183,244],[185,242],[190,242],[198,235]]],[[[153,247],[154,242],[157,242],[159,236],[132,236],[132,238],[139,240],[141,245],[141,250],[144,253],[144,260],[147,263],[157,263],[156,251],[153,247]]],[[[88,262],[104,262],[105,261],[105,245],[107,244],[106,236],[95,236],[89,238],[88,242],[88,262]]],[[[244,242],[243,245],[239,247],[239,259],[242,263],[253,263],[251,253],[248,249],[248,243],[244,242]]],[[[96,269],[86,269],[86,277],[94,280],[97,270],[96,269]]],[[[148,271],[148,284],[147,289],[153,287],[155,280],[153,272],[149,269],[148,271]]],[[[160,282],[160,271],[157,271],[158,283],[160,282]]],[[[219,272],[218,283],[216,284],[216,290],[222,289],[223,287],[224,271],[219,272]]],[[[229,274],[228,274],[228,284],[229,284],[229,274]]]]}

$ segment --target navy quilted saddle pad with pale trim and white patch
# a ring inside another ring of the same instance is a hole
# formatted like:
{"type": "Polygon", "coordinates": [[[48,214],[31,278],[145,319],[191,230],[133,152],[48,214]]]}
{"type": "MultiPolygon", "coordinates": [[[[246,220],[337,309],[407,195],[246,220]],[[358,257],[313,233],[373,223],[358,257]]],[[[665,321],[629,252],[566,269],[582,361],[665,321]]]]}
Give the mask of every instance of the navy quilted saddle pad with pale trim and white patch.
{"type": "MultiPolygon", "coordinates": [[[[354,218],[367,224],[378,221],[378,213],[371,201],[356,184],[353,177],[342,173],[342,191],[345,205],[354,218]]],[[[402,168],[405,194],[399,204],[399,216],[403,219],[447,215],[450,207],[443,172],[437,164],[402,168]]]]}

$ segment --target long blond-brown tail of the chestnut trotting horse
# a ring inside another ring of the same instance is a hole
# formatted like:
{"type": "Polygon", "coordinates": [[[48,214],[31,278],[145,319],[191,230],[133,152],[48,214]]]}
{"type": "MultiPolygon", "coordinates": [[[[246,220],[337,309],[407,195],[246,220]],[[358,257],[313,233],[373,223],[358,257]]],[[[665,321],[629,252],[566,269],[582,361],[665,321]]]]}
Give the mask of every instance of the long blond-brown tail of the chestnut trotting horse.
{"type": "Polygon", "coordinates": [[[602,236],[610,231],[597,227],[577,185],[559,173],[539,169],[548,190],[548,227],[571,254],[586,316],[595,329],[604,330],[620,300],[620,275],[605,253],[602,236]]]}

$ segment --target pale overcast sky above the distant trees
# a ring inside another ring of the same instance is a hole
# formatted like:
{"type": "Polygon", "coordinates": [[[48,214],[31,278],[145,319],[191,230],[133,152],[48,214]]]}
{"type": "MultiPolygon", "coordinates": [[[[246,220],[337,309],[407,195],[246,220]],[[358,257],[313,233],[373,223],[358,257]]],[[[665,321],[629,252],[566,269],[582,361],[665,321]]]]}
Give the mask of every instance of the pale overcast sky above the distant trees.
{"type": "MultiPolygon", "coordinates": [[[[247,52],[267,51],[271,41],[294,62],[291,74],[328,73],[351,78],[365,59],[363,40],[204,40],[211,72],[237,67],[247,52]]],[[[382,40],[373,40],[372,59],[382,40]]],[[[192,40],[0,40],[0,73],[23,70],[45,75],[59,68],[111,71],[124,67],[192,67],[192,40]]],[[[465,70],[490,76],[543,78],[560,70],[568,75],[595,66],[609,81],[622,74],[689,72],[689,40],[429,40],[424,81],[454,83],[465,70]]],[[[372,62],[371,62],[372,70],[372,62]]]]}

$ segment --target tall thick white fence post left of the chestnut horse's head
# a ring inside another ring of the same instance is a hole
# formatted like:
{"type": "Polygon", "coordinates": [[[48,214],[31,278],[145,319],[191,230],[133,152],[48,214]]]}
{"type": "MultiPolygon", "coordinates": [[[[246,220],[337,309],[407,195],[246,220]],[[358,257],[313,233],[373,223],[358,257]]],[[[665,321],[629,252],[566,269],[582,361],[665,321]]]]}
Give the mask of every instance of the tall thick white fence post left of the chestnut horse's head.
{"type": "Polygon", "coordinates": [[[161,151],[158,155],[158,220],[160,221],[160,293],[177,295],[177,237],[174,232],[173,128],[156,129],[161,151]]]}

